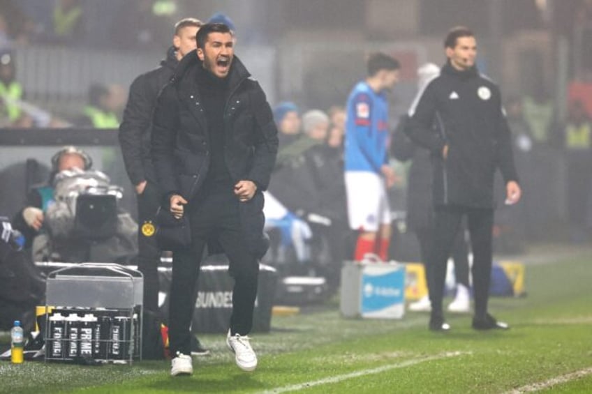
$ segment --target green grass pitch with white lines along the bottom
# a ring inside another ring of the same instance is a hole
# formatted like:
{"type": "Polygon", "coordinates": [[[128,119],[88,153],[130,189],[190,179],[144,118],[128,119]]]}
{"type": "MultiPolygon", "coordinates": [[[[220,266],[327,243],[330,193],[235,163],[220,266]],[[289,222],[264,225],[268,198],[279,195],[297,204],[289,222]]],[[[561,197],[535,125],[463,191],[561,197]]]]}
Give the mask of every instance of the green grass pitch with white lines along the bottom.
{"type": "Polygon", "coordinates": [[[512,326],[506,332],[473,331],[468,315],[449,314],[450,333],[429,332],[422,313],[343,319],[333,302],[274,317],[271,333],[254,334],[255,372],[236,367],[224,335],[200,335],[212,354],[194,358],[191,377],[169,377],[168,361],[4,361],[0,393],[592,392],[592,255],[529,264],[526,290],[491,298],[491,312],[512,326]]]}

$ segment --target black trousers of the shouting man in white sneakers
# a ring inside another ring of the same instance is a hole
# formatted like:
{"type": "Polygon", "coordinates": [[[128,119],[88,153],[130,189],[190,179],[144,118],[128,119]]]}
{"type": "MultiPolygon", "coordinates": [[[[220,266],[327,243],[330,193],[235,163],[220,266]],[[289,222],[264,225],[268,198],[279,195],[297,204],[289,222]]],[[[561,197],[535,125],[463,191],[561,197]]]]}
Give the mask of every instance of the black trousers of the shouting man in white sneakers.
{"type": "Polygon", "coordinates": [[[259,262],[249,252],[239,216],[237,197],[232,185],[203,188],[186,206],[191,222],[191,248],[173,252],[170,286],[169,340],[172,354],[190,354],[189,327],[195,309],[195,291],[204,248],[217,240],[230,261],[229,273],[235,279],[232,291],[230,332],[246,335],[253,326],[257,296],[259,262]]]}

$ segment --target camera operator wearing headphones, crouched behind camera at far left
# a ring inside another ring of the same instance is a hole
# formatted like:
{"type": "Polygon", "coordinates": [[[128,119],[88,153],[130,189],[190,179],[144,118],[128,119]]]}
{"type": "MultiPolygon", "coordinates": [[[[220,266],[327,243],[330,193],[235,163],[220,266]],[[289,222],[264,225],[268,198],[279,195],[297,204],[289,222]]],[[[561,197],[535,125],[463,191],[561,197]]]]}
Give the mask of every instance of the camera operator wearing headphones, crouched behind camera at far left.
{"type": "Polygon", "coordinates": [[[31,190],[27,206],[13,218],[15,229],[24,235],[24,248],[31,251],[34,261],[121,262],[137,252],[137,225],[128,213],[119,210],[112,213],[113,222],[117,222],[113,223],[112,234],[98,240],[86,234],[80,236],[80,232],[75,234],[75,223],[80,219],[76,217],[76,201],[80,195],[92,192],[121,197],[121,190],[110,185],[108,176],[91,166],[92,159],[86,152],[65,146],[52,157],[47,184],[31,190]]]}

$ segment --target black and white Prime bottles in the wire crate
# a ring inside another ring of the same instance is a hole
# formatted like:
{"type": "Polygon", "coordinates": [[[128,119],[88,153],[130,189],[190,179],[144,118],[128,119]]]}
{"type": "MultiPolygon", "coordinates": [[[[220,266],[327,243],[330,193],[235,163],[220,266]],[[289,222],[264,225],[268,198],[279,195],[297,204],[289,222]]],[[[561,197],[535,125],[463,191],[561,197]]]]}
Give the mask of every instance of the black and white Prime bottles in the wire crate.
{"type": "Polygon", "coordinates": [[[140,308],[53,308],[47,315],[45,360],[128,363],[140,358],[140,308]]]}

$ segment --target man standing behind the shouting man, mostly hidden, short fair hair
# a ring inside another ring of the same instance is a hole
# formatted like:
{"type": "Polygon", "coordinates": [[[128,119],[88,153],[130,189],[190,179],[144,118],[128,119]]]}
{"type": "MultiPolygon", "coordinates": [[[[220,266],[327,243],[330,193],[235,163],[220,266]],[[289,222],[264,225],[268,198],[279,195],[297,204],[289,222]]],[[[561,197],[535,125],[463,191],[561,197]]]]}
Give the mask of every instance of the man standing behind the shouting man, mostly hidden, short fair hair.
{"type": "MultiPolygon", "coordinates": [[[[138,269],[144,275],[144,308],[153,313],[158,312],[158,265],[161,262],[153,223],[161,204],[161,192],[150,159],[151,119],[158,93],[169,82],[183,56],[195,50],[195,34],[201,25],[195,18],[184,18],[175,24],[172,46],[161,66],[139,75],[132,82],[124,120],[119,126],[121,153],[138,199],[138,269]]],[[[192,354],[207,353],[199,342],[193,344],[192,354]]]]}

